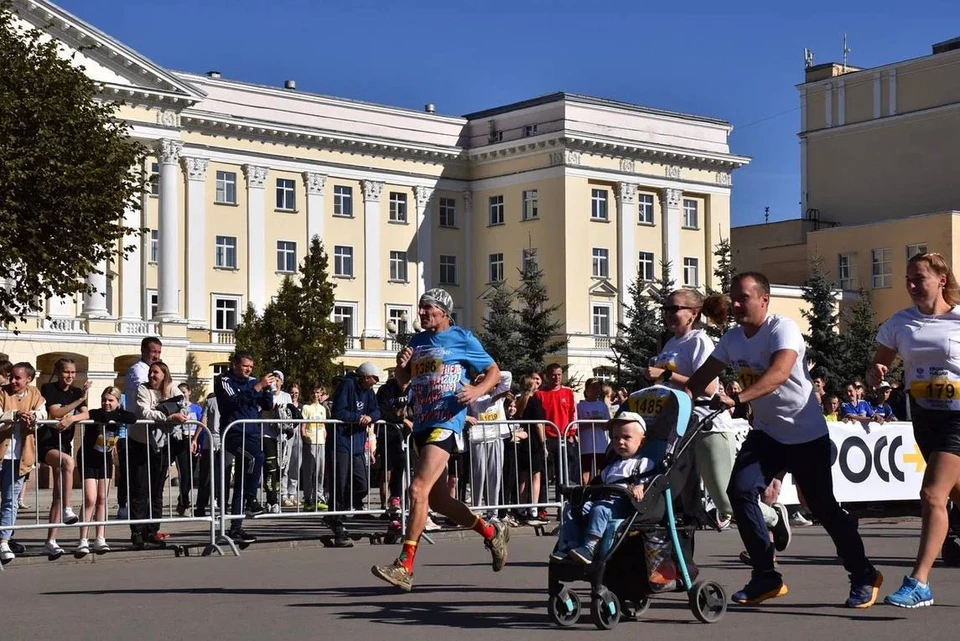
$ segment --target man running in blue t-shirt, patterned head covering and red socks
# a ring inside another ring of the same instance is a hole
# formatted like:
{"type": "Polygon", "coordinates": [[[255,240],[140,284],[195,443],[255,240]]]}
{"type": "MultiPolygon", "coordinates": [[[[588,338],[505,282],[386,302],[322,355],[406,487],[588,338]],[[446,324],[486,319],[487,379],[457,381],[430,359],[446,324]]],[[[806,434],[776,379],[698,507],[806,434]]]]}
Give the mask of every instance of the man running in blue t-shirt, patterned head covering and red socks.
{"type": "Polygon", "coordinates": [[[510,530],[502,523],[486,523],[447,492],[447,462],[463,449],[467,406],[490,393],[500,381],[500,368],[474,335],[453,325],[453,298],[443,289],[420,297],[423,331],[397,354],[397,381],[410,382],[413,439],[419,450],[410,482],[410,519],[400,557],[390,565],[375,565],[373,575],[407,592],[413,587],[417,544],[430,508],[484,538],[493,556],[493,571],[507,562],[510,530]],[[476,385],[473,373],[482,373],[476,385]]]}

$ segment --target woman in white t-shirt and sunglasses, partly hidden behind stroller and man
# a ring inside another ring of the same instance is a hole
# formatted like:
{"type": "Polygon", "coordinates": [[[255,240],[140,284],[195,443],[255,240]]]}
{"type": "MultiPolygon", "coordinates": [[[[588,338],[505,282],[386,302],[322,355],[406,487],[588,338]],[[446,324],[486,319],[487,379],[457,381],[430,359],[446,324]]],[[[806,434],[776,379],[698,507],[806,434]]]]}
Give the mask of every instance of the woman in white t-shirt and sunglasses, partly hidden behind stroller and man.
{"type": "MultiPolygon", "coordinates": [[[[723,299],[722,296],[711,296],[709,302],[703,295],[692,289],[678,289],[670,294],[663,306],[663,322],[673,336],[660,350],[654,359],[654,365],[647,368],[646,378],[656,381],[664,370],[673,372],[669,384],[684,389],[687,380],[703,365],[713,353],[713,339],[701,328],[701,317],[705,312],[712,312],[709,320],[716,325],[725,324],[726,305],[716,304],[714,299],[723,299]],[[714,311],[715,310],[715,311],[714,311]]],[[[722,301],[720,301],[722,302],[722,301]]],[[[713,381],[705,392],[709,399],[718,391],[719,381],[713,381]]],[[[706,407],[697,407],[694,411],[700,416],[710,413],[706,407]]],[[[736,440],[732,434],[733,423],[726,412],[713,420],[713,427],[704,432],[694,443],[694,454],[697,458],[703,484],[716,506],[717,527],[724,528],[730,524],[733,506],[727,498],[727,485],[730,483],[730,473],[733,471],[733,461],[736,457],[736,440]]]]}

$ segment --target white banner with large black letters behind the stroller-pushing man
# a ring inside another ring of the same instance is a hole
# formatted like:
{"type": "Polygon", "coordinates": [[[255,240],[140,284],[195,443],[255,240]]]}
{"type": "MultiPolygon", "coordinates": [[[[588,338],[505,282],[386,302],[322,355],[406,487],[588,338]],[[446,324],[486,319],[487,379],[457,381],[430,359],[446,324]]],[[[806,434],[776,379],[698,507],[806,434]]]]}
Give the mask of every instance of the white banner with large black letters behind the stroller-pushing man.
{"type": "MultiPolygon", "coordinates": [[[[737,440],[750,431],[738,424],[737,440]]],[[[827,423],[833,443],[833,493],[841,503],[863,501],[915,501],[926,463],[913,438],[910,423],[871,423],[865,430],[849,423],[827,423]]],[[[739,449],[739,448],[738,448],[739,449]]],[[[797,488],[788,474],[783,479],[780,502],[797,505],[797,488]]]]}

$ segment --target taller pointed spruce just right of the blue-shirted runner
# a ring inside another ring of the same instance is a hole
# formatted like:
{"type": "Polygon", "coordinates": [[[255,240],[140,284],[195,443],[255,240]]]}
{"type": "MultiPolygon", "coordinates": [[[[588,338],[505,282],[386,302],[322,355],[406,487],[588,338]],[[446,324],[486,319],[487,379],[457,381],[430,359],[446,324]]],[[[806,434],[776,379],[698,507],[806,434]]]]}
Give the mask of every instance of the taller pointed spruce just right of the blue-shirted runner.
{"type": "Polygon", "coordinates": [[[517,304],[519,305],[520,326],[520,354],[516,364],[518,374],[529,374],[541,371],[545,365],[545,358],[563,349],[567,344],[566,337],[561,335],[563,322],[557,320],[554,314],[560,305],[550,305],[547,287],[543,284],[543,270],[535,261],[528,261],[526,269],[521,273],[520,286],[516,290],[517,304]]]}

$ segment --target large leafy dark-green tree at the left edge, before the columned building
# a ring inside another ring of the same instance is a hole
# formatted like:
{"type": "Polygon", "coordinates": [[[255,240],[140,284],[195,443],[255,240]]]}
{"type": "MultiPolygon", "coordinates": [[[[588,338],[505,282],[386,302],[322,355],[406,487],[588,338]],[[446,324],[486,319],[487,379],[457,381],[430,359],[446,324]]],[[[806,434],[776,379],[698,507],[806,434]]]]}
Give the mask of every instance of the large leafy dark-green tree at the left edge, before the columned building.
{"type": "MultiPolygon", "coordinates": [[[[49,297],[92,292],[85,278],[137,230],[123,224],[145,186],[145,149],[98,100],[98,85],[57,42],[0,4],[0,323],[49,297]]],[[[102,292],[101,292],[102,293],[102,292]]]]}

